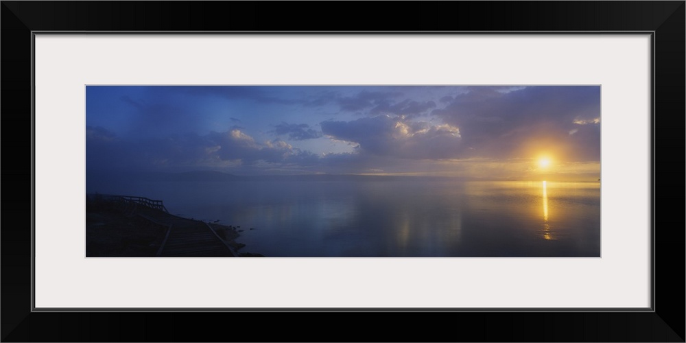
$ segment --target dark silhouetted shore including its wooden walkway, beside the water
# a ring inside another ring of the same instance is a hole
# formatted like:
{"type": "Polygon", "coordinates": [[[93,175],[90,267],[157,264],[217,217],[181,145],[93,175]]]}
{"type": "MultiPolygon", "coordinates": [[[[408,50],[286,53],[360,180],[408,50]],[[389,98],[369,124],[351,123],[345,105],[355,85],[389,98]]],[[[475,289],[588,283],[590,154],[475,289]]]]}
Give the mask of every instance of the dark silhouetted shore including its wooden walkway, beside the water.
{"type": "Polygon", "coordinates": [[[233,226],[171,215],[116,196],[86,197],[86,257],[262,257],[233,226]],[[170,230],[171,227],[171,230],[170,230]]]}

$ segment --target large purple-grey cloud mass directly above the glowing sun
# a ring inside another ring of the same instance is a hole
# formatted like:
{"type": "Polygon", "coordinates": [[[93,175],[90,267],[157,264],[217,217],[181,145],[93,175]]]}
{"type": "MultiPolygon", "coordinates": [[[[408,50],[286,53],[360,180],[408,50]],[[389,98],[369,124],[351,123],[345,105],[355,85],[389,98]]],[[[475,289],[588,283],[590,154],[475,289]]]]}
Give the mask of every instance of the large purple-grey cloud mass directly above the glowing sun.
{"type": "Polygon", "coordinates": [[[431,115],[460,128],[471,156],[524,157],[538,146],[570,161],[600,161],[600,86],[475,86],[431,115]]]}

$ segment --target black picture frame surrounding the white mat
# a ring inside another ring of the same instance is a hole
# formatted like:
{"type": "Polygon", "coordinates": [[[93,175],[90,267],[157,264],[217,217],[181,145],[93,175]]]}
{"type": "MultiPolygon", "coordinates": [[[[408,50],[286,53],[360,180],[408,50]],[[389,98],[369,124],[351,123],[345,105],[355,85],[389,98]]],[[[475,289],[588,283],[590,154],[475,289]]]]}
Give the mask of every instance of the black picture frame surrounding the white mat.
{"type": "Polygon", "coordinates": [[[2,201],[3,342],[685,342],[684,217],[655,211],[684,199],[685,1],[2,1],[0,11],[3,152],[12,158],[2,175],[18,186],[2,201]],[[32,311],[32,32],[284,30],[652,32],[654,311],[32,311]]]}

